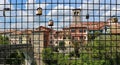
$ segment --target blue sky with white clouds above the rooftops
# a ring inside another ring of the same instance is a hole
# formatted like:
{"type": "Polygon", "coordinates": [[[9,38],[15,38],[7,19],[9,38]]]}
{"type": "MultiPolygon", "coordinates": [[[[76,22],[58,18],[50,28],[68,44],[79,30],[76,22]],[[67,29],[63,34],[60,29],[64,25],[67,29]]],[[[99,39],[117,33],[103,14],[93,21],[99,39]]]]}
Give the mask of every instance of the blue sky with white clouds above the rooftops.
{"type": "Polygon", "coordinates": [[[54,21],[54,29],[68,27],[72,22],[72,9],[81,9],[81,21],[106,21],[111,16],[120,19],[119,0],[0,0],[0,29],[33,29],[48,27],[48,21],[54,21]],[[110,5],[111,4],[111,5],[110,5]],[[43,14],[37,16],[36,9],[41,7],[43,14]],[[11,8],[5,12],[3,8],[11,8]],[[89,14],[87,20],[85,15],[89,14]]]}

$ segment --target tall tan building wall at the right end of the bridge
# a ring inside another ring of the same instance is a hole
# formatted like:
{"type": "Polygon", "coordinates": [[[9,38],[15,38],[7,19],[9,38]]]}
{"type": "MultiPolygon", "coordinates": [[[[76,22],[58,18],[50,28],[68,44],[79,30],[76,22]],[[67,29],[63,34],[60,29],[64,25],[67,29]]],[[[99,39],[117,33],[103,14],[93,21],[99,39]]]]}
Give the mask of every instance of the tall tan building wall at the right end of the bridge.
{"type": "Polygon", "coordinates": [[[44,32],[35,32],[31,35],[32,44],[34,46],[34,58],[37,65],[43,65],[42,50],[44,48],[44,32]]]}

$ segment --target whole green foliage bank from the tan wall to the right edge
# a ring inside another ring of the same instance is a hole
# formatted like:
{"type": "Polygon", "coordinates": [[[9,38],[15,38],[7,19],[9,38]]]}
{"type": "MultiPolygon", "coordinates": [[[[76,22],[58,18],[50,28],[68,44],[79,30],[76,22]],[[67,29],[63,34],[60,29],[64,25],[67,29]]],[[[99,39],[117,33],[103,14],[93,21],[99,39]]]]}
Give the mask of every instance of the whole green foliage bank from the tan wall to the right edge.
{"type": "MultiPolygon", "coordinates": [[[[75,57],[75,51],[66,55],[46,48],[46,51],[43,52],[43,61],[47,65],[119,65],[119,40],[119,35],[99,35],[90,41],[82,51],[79,51],[80,57],[75,57]],[[49,62],[46,62],[45,59],[48,59],[49,62]]],[[[79,46],[79,41],[73,41],[75,50],[78,50],[79,46]]]]}

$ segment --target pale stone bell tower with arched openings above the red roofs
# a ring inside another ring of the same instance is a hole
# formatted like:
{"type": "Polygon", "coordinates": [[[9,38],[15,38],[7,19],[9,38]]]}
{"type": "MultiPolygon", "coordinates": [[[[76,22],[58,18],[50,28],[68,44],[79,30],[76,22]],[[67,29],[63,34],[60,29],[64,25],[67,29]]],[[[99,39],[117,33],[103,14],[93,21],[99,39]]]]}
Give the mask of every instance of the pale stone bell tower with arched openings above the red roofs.
{"type": "Polygon", "coordinates": [[[73,23],[80,22],[80,13],[81,13],[81,9],[73,9],[72,10],[73,23]]]}

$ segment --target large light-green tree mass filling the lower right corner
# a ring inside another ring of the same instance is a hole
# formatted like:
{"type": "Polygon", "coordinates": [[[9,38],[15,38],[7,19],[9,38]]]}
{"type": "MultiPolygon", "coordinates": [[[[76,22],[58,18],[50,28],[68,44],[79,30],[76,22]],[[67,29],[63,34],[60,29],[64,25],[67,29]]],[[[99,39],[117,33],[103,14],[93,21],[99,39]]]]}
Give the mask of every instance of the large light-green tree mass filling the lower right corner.
{"type": "Polygon", "coordinates": [[[120,36],[100,35],[91,43],[88,43],[89,50],[83,50],[80,58],[88,65],[118,65],[120,64],[120,36]],[[85,54],[84,54],[85,53],[85,54]],[[92,62],[92,60],[94,62],[92,62]],[[91,60],[91,61],[88,61],[91,60]]]}

